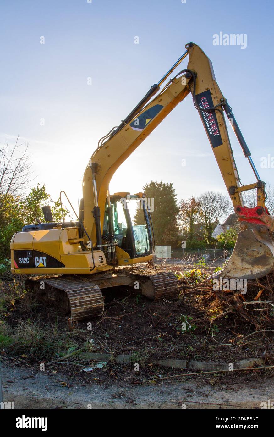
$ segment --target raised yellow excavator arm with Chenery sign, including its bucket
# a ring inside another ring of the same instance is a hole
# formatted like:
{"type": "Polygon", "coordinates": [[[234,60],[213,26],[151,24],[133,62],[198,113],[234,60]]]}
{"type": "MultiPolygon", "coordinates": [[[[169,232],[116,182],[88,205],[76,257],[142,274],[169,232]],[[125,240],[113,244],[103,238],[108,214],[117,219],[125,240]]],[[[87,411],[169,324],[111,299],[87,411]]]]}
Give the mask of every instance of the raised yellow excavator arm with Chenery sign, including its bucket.
{"type": "Polygon", "coordinates": [[[274,268],[274,250],[270,236],[274,229],[274,218],[268,214],[264,206],[265,184],[260,180],[232,109],[215,80],[212,62],[201,48],[193,43],[186,45],[186,52],[160,82],[151,87],[121,125],[99,141],[83,177],[80,216],[87,231],[83,234],[84,241],[87,243],[90,236],[92,242],[97,242],[94,243],[97,249],[101,249],[98,239],[101,237],[104,215],[101,214],[100,217],[100,212],[104,211],[108,185],[114,172],[190,93],[205,127],[234,210],[242,222],[239,243],[237,240],[231,260],[222,274],[233,278],[263,276],[274,268]],[[178,73],[160,90],[160,85],[187,55],[187,69],[178,73]],[[243,153],[250,162],[256,177],[253,184],[242,185],[240,182],[224,113],[228,116],[243,153]],[[250,189],[257,190],[256,208],[246,208],[243,203],[242,193],[250,189]]]}

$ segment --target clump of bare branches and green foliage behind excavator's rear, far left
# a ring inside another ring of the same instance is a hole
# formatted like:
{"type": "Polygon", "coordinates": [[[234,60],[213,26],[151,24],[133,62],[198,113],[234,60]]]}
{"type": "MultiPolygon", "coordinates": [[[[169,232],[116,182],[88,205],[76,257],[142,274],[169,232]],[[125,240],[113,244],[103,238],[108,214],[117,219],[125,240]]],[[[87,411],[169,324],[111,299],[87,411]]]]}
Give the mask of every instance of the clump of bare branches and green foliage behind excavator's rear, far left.
{"type": "MultiPolygon", "coordinates": [[[[23,225],[44,220],[42,206],[52,202],[54,221],[62,218],[60,200],[52,201],[45,184],[28,192],[31,183],[31,160],[28,144],[18,138],[14,146],[0,146],[0,274],[10,265],[10,240],[23,225]]],[[[64,215],[68,210],[64,208],[64,215]]]]}

